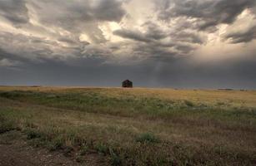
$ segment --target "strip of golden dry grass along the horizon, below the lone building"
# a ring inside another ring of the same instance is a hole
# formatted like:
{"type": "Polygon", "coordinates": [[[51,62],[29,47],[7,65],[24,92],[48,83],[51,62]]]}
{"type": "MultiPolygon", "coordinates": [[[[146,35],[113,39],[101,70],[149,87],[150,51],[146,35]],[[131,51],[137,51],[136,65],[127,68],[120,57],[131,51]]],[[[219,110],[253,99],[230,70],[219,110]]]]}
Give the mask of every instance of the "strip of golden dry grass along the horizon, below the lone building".
{"type": "Polygon", "coordinates": [[[43,92],[83,92],[94,91],[102,95],[122,97],[134,95],[140,97],[158,97],[166,100],[191,100],[197,103],[215,104],[228,102],[233,105],[256,107],[256,90],[174,90],[174,89],[149,89],[149,88],[93,88],[70,86],[0,86],[0,90],[36,90],[43,92]]]}

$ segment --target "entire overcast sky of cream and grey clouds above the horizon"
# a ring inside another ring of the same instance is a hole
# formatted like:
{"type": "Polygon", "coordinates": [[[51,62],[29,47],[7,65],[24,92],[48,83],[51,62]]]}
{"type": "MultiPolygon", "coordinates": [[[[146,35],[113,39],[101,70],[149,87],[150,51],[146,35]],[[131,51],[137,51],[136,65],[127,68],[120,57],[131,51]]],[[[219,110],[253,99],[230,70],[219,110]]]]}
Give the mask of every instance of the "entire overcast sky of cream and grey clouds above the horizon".
{"type": "Polygon", "coordinates": [[[0,0],[0,85],[256,89],[255,0],[0,0]]]}

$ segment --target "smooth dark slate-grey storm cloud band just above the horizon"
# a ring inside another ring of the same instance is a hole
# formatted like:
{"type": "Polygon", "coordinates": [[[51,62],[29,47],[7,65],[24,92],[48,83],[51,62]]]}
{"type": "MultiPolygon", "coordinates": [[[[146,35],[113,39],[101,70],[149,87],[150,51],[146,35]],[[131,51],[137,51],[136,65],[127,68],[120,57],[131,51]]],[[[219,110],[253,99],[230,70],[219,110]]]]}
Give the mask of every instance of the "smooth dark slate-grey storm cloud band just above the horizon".
{"type": "Polygon", "coordinates": [[[97,65],[98,61],[80,60],[81,66],[58,61],[28,63],[22,71],[0,70],[1,85],[92,85],[120,86],[125,79],[135,87],[236,88],[255,89],[255,61],[233,64],[201,64],[188,61],[157,61],[129,66],[97,65]],[[40,73],[40,74],[38,74],[40,73]]]}

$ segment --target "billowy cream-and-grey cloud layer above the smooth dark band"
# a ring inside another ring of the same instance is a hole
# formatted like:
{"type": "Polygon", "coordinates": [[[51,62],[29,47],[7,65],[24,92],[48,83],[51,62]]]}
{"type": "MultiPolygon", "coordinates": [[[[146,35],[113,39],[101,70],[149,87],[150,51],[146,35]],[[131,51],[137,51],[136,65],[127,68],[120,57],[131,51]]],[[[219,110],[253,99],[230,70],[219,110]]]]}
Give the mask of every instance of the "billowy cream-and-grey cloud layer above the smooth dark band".
{"type": "Polygon", "coordinates": [[[256,58],[255,39],[255,0],[0,1],[2,70],[143,66],[158,78],[221,63],[225,71],[256,58]]]}

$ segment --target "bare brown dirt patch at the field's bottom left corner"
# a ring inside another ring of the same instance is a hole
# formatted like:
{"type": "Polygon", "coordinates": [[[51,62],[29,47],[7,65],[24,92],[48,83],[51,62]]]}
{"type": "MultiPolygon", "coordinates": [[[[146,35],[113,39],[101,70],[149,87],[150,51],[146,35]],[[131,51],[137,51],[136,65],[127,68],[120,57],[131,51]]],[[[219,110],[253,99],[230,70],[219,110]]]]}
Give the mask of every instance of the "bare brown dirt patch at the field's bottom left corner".
{"type": "Polygon", "coordinates": [[[97,154],[83,156],[83,162],[78,163],[75,158],[68,158],[60,152],[34,148],[22,137],[17,131],[0,135],[0,166],[106,165],[97,154]]]}

